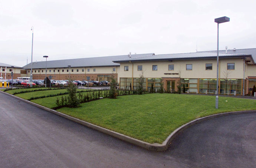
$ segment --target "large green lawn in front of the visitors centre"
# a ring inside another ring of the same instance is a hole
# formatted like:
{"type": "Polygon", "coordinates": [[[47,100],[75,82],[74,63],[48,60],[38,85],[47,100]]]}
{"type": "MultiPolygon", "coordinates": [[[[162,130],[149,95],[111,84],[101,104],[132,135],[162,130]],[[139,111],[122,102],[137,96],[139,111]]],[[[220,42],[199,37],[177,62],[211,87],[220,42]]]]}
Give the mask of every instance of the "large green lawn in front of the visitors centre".
{"type": "Polygon", "coordinates": [[[155,93],[105,98],[58,111],[142,141],[161,144],[176,128],[196,118],[255,109],[256,100],[250,99],[220,96],[219,109],[215,109],[215,96],[155,93]]]}

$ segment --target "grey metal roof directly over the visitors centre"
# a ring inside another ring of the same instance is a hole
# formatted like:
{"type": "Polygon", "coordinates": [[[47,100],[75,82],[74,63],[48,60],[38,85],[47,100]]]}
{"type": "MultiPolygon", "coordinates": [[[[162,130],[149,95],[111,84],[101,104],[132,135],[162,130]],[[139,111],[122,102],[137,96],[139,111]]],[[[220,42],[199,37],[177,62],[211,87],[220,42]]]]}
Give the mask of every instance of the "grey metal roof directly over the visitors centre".
{"type": "MultiPolygon", "coordinates": [[[[237,53],[219,53],[220,57],[234,57],[234,56],[247,56],[247,54],[237,53]]],[[[196,52],[196,53],[179,53],[179,54],[161,54],[144,57],[135,57],[131,59],[115,60],[114,62],[128,62],[128,61],[152,61],[152,60],[174,60],[174,59],[202,59],[217,57],[217,52],[196,52]]],[[[253,60],[252,60],[253,61],[253,60]]]]}

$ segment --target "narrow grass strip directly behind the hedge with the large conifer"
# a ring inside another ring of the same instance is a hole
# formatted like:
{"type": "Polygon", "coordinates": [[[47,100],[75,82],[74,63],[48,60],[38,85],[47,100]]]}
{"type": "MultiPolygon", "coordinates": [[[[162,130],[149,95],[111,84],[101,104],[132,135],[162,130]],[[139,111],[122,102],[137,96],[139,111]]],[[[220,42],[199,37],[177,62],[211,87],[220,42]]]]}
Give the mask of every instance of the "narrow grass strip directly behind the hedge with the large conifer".
{"type": "MultiPolygon", "coordinates": [[[[90,92],[82,92],[82,94],[87,94],[87,93],[90,93],[90,92]]],[[[78,96],[78,94],[79,93],[76,93],[76,96],[78,96]]],[[[61,96],[65,96],[65,95],[61,95],[61,96]]],[[[34,102],[34,103],[37,103],[39,105],[45,106],[47,108],[53,109],[53,108],[57,107],[56,99],[57,98],[60,99],[61,96],[53,96],[53,97],[48,97],[48,98],[40,98],[40,99],[31,100],[31,102],[34,102]]]]}

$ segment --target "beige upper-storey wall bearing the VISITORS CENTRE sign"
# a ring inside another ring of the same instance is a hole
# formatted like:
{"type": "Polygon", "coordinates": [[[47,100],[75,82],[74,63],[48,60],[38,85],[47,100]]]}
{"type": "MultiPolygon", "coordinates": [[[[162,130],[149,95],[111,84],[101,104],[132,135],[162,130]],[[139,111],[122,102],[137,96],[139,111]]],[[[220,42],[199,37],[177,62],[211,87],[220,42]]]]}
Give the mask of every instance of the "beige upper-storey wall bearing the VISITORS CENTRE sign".
{"type": "MultiPolygon", "coordinates": [[[[134,62],[133,77],[139,78],[143,72],[144,78],[215,78],[217,76],[216,59],[197,59],[197,60],[173,60],[154,61],[154,62],[134,62]],[[206,63],[212,63],[213,69],[206,70],[206,63]],[[192,70],[186,70],[186,64],[192,64],[192,70]],[[138,71],[138,65],[142,65],[142,71],[138,71]],[[158,69],[152,70],[152,65],[157,65],[158,69]],[[174,65],[174,70],[168,70],[168,65],[174,65]],[[180,75],[164,75],[164,73],[178,73],[180,75]]],[[[219,63],[220,78],[242,79],[243,60],[242,59],[220,59],[219,63]],[[234,70],[227,70],[227,63],[235,63],[234,70]]],[[[119,78],[132,77],[132,63],[121,63],[119,78]],[[124,66],[129,66],[129,71],[124,71],[124,66]]]]}

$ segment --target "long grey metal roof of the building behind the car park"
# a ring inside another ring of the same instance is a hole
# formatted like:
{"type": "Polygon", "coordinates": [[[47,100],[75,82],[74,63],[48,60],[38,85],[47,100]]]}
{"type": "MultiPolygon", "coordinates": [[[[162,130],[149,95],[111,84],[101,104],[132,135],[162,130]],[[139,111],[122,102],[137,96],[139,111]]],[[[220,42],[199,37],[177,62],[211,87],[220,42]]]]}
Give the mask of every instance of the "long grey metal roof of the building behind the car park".
{"type": "MultiPolygon", "coordinates": [[[[133,57],[143,57],[148,55],[154,55],[154,53],[149,54],[135,54],[131,55],[133,57]]],[[[60,67],[90,67],[90,66],[119,66],[119,63],[114,63],[114,60],[128,58],[128,55],[119,56],[105,56],[105,57],[91,57],[91,58],[78,58],[78,59],[64,59],[64,60],[53,60],[47,61],[47,68],[60,68],[60,67]]],[[[46,62],[33,62],[33,69],[45,68],[46,62]]],[[[23,69],[30,69],[31,63],[22,67],[23,69]]]]}

